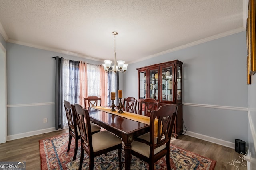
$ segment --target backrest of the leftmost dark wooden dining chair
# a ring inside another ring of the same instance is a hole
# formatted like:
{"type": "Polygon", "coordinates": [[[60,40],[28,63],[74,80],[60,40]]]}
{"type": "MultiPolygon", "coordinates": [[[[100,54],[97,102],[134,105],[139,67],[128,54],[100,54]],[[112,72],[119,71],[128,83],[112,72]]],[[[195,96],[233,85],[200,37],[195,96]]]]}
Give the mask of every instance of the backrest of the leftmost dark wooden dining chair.
{"type": "Polygon", "coordinates": [[[74,105],[64,100],[64,107],[65,107],[66,116],[68,119],[68,127],[73,129],[73,131],[77,133],[77,128],[76,128],[77,122],[76,122],[76,113],[75,113],[74,105]]]}

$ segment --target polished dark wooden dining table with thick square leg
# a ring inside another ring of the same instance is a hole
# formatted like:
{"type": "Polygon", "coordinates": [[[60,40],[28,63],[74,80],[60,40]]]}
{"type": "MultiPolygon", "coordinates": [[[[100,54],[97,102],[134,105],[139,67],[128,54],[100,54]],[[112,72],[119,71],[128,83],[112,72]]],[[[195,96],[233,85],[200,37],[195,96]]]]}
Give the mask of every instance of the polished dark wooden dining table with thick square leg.
{"type": "MultiPolygon", "coordinates": [[[[103,127],[104,129],[110,131],[111,133],[117,135],[122,139],[122,141],[124,142],[125,169],[130,170],[132,157],[131,143],[134,137],[138,137],[144,133],[149,132],[149,125],[145,123],[140,123],[139,121],[130,120],[119,115],[100,111],[92,107],[86,107],[85,109],[88,110],[90,120],[93,123],[96,123],[97,125],[103,127]]],[[[116,109],[116,113],[117,111],[118,109],[116,109]]],[[[123,111],[149,116],[149,113],[144,113],[144,111],[136,109],[123,108],[123,111]]]]}

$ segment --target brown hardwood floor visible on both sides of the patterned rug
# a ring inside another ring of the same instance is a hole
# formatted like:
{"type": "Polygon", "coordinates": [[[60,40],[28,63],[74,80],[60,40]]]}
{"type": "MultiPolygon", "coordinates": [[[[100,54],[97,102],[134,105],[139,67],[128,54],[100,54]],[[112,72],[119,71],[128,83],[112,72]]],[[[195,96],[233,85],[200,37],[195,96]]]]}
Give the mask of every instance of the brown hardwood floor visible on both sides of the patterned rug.
{"type": "MultiPolygon", "coordinates": [[[[48,137],[68,133],[68,129],[16,139],[0,144],[0,161],[26,161],[26,170],[40,170],[39,140],[48,137]]],[[[177,147],[200,154],[216,160],[215,170],[238,170],[227,162],[239,160],[240,154],[234,149],[196,139],[187,135],[181,135],[178,139],[172,138],[171,143],[177,147]]],[[[247,167],[239,167],[239,170],[247,170],[247,167]]]]}

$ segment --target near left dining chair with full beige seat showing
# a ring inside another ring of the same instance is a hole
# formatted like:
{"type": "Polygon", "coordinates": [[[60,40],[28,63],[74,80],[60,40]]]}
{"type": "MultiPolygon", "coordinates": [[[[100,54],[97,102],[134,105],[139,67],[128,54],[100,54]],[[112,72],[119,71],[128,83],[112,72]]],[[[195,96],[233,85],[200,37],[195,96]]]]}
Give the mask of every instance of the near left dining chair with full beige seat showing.
{"type": "Polygon", "coordinates": [[[79,170],[82,169],[84,161],[84,151],[89,156],[89,170],[94,168],[94,157],[106,154],[118,149],[119,168],[122,169],[121,150],[122,140],[109,131],[91,133],[90,116],[88,110],[81,105],[75,104],[78,127],[81,137],[81,156],[79,170]]]}

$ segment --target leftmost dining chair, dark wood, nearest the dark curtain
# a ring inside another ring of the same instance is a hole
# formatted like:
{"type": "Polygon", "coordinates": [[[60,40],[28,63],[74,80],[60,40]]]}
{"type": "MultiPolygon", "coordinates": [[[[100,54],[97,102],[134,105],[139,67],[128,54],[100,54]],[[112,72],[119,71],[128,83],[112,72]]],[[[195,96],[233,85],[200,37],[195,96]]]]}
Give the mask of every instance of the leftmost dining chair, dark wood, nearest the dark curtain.
{"type": "MultiPolygon", "coordinates": [[[[64,100],[64,107],[66,111],[66,116],[68,120],[68,129],[69,129],[69,140],[68,140],[68,150],[69,152],[72,137],[75,139],[75,149],[74,149],[74,156],[72,160],[76,160],[76,154],[77,154],[77,149],[78,149],[78,140],[80,139],[80,132],[78,129],[77,125],[77,120],[76,120],[76,111],[75,107],[73,104],[70,104],[70,102],[64,100]]],[[[92,133],[97,133],[100,132],[100,127],[94,123],[91,123],[91,130],[92,133]]]]}

